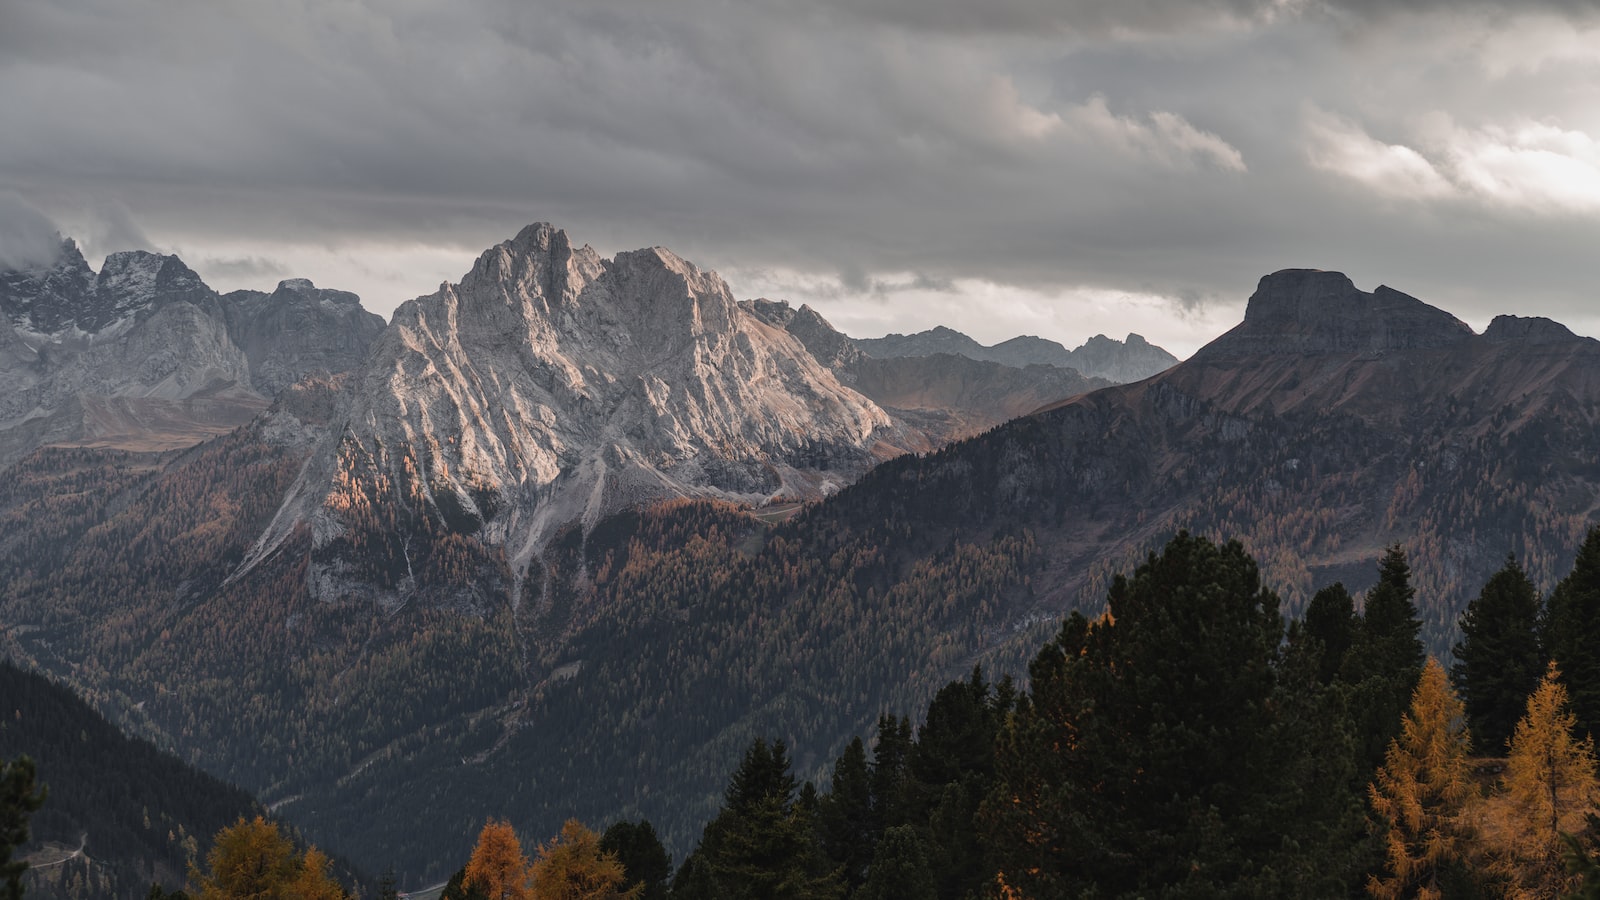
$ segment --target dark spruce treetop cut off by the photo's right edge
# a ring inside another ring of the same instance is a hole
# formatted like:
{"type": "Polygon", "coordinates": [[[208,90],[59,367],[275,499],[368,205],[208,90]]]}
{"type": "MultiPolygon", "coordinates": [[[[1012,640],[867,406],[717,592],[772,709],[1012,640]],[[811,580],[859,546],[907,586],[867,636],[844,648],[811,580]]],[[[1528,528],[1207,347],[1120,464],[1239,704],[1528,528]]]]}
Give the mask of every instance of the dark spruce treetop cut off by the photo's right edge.
{"type": "Polygon", "coordinates": [[[1600,525],[1589,528],[1573,570],[1555,585],[1546,607],[1546,655],[1578,716],[1578,733],[1600,733],[1600,525]]]}

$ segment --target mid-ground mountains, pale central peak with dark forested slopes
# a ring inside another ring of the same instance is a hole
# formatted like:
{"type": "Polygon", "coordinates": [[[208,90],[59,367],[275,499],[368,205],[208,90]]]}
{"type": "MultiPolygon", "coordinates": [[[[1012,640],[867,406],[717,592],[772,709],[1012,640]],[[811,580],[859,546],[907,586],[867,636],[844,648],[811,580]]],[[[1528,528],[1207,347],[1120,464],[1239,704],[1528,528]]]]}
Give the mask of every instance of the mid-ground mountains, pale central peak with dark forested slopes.
{"type": "Polygon", "coordinates": [[[1443,650],[1507,551],[1549,585],[1600,516],[1600,343],[1338,272],[1266,275],[1131,384],[869,352],[531,226],[221,437],[13,464],[0,645],[442,876],[485,815],[648,815],[683,850],[749,738],[816,773],[974,663],[1024,671],[1181,527],[1240,538],[1288,612],[1400,543],[1443,650]]]}

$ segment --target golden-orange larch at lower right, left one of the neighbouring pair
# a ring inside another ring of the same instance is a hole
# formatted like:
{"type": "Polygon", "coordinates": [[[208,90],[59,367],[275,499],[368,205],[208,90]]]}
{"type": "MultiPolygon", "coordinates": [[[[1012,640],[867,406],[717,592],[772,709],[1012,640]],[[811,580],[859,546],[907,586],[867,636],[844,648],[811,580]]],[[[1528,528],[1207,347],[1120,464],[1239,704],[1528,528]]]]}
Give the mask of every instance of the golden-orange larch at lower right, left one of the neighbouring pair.
{"type": "Polygon", "coordinates": [[[1378,778],[1368,786],[1373,812],[1387,826],[1389,862],[1382,878],[1366,882],[1373,897],[1440,897],[1440,871],[1461,857],[1466,810],[1477,798],[1469,745],[1461,700],[1450,690],[1445,668],[1429,657],[1400,737],[1389,741],[1378,778]]]}

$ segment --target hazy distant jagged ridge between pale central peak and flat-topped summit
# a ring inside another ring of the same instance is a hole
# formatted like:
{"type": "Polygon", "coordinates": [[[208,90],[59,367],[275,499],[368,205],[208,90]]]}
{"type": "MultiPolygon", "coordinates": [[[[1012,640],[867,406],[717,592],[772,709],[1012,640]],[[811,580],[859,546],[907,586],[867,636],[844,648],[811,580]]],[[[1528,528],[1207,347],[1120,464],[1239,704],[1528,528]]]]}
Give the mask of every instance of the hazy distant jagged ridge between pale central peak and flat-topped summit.
{"type": "Polygon", "coordinates": [[[1178,362],[1178,357],[1146,341],[1141,335],[1128,335],[1126,341],[1094,335],[1083,346],[1072,351],[1056,341],[1032,335],[1022,335],[986,348],[973,338],[944,325],[915,335],[853,338],[853,341],[867,356],[877,359],[952,354],[1018,368],[1029,365],[1075,368],[1090,378],[1104,378],[1115,384],[1142,381],[1171,368],[1178,362]]]}

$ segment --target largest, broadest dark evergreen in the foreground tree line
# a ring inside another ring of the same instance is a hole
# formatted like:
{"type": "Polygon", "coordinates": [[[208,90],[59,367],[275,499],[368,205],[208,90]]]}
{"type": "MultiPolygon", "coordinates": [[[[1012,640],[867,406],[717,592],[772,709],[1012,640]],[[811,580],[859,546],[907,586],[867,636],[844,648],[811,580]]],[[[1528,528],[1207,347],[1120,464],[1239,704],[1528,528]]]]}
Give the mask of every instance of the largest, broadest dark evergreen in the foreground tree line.
{"type": "Polygon", "coordinates": [[[1275,740],[1277,597],[1237,543],[1187,533],[1117,577],[1030,666],[982,807],[1000,881],[1026,897],[1310,895],[1320,847],[1309,753],[1275,740]]]}

